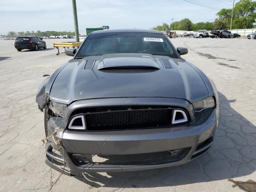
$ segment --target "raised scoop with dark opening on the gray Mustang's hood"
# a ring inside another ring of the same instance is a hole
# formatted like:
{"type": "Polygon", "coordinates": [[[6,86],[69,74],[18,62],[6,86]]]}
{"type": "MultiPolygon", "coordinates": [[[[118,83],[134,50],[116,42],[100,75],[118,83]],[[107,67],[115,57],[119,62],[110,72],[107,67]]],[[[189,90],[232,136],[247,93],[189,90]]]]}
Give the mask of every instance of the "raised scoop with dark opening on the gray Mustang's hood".
{"type": "Polygon", "coordinates": [[[158,70],[158,63],[150,56],[104,58],[98,64],[98,70],[115,69],[152,69],[158,70]]]}

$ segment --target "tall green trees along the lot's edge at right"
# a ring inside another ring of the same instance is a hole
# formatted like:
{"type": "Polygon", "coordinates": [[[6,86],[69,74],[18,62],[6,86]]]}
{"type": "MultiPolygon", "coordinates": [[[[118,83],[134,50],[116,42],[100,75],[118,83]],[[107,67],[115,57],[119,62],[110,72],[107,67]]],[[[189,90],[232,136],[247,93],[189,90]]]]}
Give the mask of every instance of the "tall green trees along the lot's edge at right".
{"type": "MultiPolygon", "coordinates": [[[[232,9],[222,9],[220,10],[214,20],[214,22],[199,22],[192,23],[188,18],[182,19],[180,21],[173,22],[168,25],[163,23],[153,27],[153,30],[166,30],[166,28],[172,28],[173,30],[184,30],[184,31],[198,31],[200,29],[212,30],[212,28],[217,29],[230,29],[232,9]]],[[[232,29],[248,29],[252,28],[252,23],[256,20],[256,1],[252,0],[240,0],[234,6],[232,29]]]]}

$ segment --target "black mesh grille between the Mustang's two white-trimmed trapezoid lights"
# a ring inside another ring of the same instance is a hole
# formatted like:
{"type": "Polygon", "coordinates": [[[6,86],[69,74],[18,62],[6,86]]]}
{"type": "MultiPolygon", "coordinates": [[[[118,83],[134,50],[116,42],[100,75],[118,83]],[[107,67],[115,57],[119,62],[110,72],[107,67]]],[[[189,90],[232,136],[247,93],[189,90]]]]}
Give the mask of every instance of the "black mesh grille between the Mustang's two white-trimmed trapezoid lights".
{"type": "Polygon", "coordinates": [[[171,108],[108,110],[86,113],[87,130],[126,130],[171,125],[171,108]]]}

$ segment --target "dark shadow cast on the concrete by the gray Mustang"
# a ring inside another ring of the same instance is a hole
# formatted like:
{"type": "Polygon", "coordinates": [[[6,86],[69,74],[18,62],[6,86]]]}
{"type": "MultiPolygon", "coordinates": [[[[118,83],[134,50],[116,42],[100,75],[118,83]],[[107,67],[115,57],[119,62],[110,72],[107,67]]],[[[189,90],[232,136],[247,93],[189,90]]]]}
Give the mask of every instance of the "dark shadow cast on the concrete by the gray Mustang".
{"type": "Polygon", "coordinates": [[[228,180],[256,170],[256,127],[218,93],[220,119],[208,153],[180,166],[137,172],[84,173],[75,178],[95,188],[153,188],[228,180]]]}

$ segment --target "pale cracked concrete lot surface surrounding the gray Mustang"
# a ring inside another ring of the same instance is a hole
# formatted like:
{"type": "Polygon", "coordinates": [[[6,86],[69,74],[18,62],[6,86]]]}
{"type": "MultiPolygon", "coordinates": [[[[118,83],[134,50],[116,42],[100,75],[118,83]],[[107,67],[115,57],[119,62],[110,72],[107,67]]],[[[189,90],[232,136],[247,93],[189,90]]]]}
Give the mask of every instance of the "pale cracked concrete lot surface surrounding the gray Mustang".
{"type": "MultiPolygon", "coordinates": [[[[18,52],[12,40],[0,41],[0,191],[47,191],[50,168],[44,164],[43,113],[35,102],[38,86],[71,57],[47,49],[18,52]],[[38,189],[38,190],[36,190],[38,189]]],[[[256,40],[176,38],[187,47],[183,58],[216,84],[220,120],[210,151],[182,166],[127,173],[63,175],[53,191],[256,191],[256,40]],[[233,187],[232,178],[240,187],[233,187]]],[[[58,177],[58,172],[54,177],[58,177]]]]}

